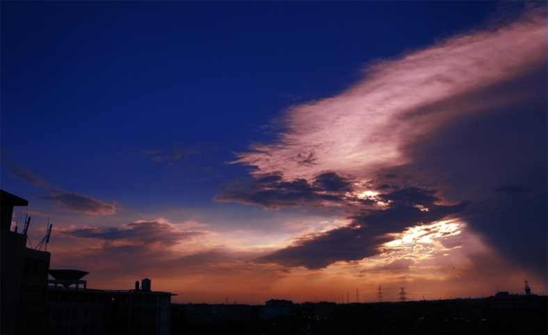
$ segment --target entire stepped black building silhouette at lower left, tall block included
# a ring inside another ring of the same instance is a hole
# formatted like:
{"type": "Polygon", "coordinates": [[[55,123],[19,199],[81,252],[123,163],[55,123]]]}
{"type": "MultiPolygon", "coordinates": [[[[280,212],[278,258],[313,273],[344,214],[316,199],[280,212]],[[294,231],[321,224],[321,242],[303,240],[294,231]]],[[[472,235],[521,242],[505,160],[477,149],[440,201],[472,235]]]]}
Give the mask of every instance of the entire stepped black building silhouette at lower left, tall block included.
{"type": "Polygon", "coordinates": [[[11,231],[13,207],[29,202],[1,190],[0,203],[0,334],[170,334],[175,294],[152,291],[148,278],[133,289],[95,290],[82,280],[89,272],[49,270],[51,254],[26,247],[30,218],[11,231]]]}

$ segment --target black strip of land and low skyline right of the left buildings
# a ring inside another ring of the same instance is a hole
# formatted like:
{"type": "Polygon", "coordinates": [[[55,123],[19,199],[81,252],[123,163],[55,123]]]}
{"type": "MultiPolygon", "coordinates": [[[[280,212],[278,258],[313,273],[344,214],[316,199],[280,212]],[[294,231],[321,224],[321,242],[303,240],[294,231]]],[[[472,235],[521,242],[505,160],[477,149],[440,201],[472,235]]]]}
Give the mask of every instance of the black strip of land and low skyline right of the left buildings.
{"type": "Polygon", "coordinates": [[[198,306],[173,304],[172,334],[548,334],[546,296],[535,309],[492,307],[487,298],[291,304],[289,315],[266,320],[264,306],[241,318],[206,317],[198,306]]]}

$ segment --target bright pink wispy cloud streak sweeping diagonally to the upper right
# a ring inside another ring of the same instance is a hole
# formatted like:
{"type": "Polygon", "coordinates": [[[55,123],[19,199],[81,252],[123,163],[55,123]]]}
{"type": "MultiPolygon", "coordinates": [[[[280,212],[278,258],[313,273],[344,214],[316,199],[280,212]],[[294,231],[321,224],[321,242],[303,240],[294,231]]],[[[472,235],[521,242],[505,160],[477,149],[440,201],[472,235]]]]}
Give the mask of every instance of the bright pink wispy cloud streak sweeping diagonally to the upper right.
{"type": "MultiPolygon", "coordinates": [[[[410,142],[478,111],[477,104],[437,104],[522,76],[544,67],[545,60],[543,13],[458,35],[369,66],[360,83],[337,97],[293,106],[280,140],[253,145],[237,162],[257,167],[257,174],[282,172],[290,180],[311,179],[323,171],[369,179],[380,168],[409,163],[405,148],[410,142]]],[[[501,105],[526,99],[497,98],[501,105]]]]}

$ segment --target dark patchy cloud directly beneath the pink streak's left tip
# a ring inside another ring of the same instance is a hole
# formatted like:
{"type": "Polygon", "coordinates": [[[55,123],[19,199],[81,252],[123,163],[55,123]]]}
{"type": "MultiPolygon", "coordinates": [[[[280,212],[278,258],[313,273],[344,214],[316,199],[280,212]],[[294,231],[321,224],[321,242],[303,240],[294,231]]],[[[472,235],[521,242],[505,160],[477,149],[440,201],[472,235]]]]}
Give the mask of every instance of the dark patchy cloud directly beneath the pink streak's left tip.
{"type": "Polygon", "coordinates": [[[231,190],[213,199],[217,202],[257,204],[267,209],[298,207],[302,204],[349,206],[368,202],[366,199],[348,196],[346,193],[352,190],[351,180],[335,172],[323,172],[312,183],[306,179],[282,181],[280,173],[264,174],[239,186],[231,184],[229,187],[231,190]]]}

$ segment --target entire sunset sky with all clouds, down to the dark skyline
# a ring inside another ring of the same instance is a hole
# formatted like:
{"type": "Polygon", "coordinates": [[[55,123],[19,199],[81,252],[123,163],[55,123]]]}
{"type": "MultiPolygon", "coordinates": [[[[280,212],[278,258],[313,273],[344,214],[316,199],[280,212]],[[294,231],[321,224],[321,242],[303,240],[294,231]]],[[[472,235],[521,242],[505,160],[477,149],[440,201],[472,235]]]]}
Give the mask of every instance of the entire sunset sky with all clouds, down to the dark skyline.
{"type": "MultiPolygon", "coordinates": [[[[89,288],[546,293],[547,5],[1,1],[1,188],[89,288]]],[[[42,249],[43,250],[43,249],[42,249]]],[[[356,292],[359,294],[356,295],[356,292]]]]}

